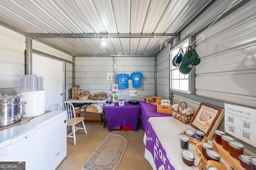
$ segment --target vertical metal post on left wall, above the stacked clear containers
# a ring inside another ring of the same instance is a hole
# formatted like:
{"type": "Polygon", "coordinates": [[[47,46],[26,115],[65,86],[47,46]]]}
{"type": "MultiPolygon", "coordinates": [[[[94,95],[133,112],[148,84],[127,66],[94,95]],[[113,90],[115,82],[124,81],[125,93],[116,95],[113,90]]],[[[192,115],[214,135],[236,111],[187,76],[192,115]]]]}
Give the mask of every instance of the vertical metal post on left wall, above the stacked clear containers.
{"type": "Polygon", "coordinates": [[[25,74],[32,74],[32,37],[25,36],[25,74]]]}

